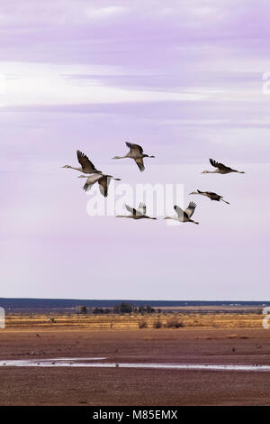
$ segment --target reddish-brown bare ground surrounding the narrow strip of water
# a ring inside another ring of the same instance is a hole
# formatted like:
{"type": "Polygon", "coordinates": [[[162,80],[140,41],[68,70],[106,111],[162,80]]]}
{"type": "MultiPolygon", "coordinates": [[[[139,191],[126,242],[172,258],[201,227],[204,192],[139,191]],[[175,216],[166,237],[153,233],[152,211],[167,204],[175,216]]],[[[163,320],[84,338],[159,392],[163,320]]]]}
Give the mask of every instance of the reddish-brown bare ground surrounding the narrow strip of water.
{"type": "MultiPolygon", "coordinates": [[[[1,360],[76,356],[270,364],[270,330],[0,330],[1,360]]],[[[0,405],[270,405],[270,373],[263,372],[1,367],[0,381],[0,405]]]]}

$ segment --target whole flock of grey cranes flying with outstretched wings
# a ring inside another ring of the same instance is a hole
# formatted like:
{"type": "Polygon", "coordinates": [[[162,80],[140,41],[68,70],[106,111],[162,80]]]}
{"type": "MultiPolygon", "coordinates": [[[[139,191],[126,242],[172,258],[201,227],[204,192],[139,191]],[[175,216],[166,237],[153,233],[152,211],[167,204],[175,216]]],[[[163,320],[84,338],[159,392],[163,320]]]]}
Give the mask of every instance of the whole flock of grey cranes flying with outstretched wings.
{"type": "MultiPolygon", "coordinates": [[[[145,154],[143,152],[143,149],[139,144],[133,144],[133,143],[126,143],[127,147],[129,147],[130,151],[125,154],[124,156],[114,156],[112,159],[124,159],[124,158],[130,158],[133,159],[133,161],[136,162],[136,164],[139,167],[139,171],[144,171],[144,158],[155,158],[155,156],[149,156],[148,154],[145,154]]],[[[86,182],[83,187],[85,191],[89,190],[94,186],[94,184],[97,182],[99,185],[100,192],[102,195],[106,198],[108,196],[108,187],[111,180],[118,180],[119,178],[114,178],[112,175],[108,175],[103,173],[103,171],[98,171],[94,167],[94,163],[89,160],[89,158],[82,152],[76,151],[76,157],[77,161],[81,165],[80,167],[73,167],[70,165],[64,165],[63,168],[68,168],[80,172],[84,172],[87,175],[80,175],[78,178],[85,178],[86,182]]],[[[223,163],[214,161],[212,159],[209,160],[212,167],[215,168],[214,171],[202,171],[202,173],[219,173],[219,174],[229,174],[230,172],[238,172],[241,174],[244,174],[244,171],[237,171],[233,170],[232,168],[229,168],[226,165],[223,165],[223,163]]],[[[213,193],[212,191],[201,191],[197,189],[197,191],[193,191],[190,193],[191,195],[201,195],[206,196],[207,198],[210,198],[211,200],[216,201],[223,201],[229,205],[229,202],[223,199],[222,196],[220,196],[217,193],[213,193]]],[[[129,205],[125,205],[128,212],[130,212],[130,215],[118,215],[117,217],[125,217],[125,218],[132,218],[132,219],[157,219],[156,217],[148,217],[146,215],[146,206],[143,203],[139,204],[139,207],[137,209],[135,207],[130,207],[129,205]]],[[[199,224],[196,221],[193,221],[191,217],[193,217],[193,213],[195,210],[196,204],[194,202],[190,202],[188,207],[186,207],[185,210],[181,209],[178,205],[175,205],[175,217],[165,217],[164,219],[173,219],[178,222],[193,222],[193,224],[199,224]]]]}

